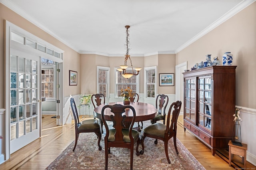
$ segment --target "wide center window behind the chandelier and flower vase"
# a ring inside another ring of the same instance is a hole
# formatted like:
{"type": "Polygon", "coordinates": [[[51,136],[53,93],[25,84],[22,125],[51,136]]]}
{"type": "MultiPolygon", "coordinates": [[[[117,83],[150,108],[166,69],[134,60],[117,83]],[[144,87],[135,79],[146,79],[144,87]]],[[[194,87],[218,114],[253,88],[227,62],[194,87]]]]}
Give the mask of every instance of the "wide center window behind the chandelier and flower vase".
{"type": "MultiPolygon", "coordinates": [[[[115,68],[116,70],[116,68],[115,68]]],[[[132,70],[127,70],[126,73],[132,73],[132,70]]],[[[139,74],[140,75],[140,74],[139,74]]],[[[139,75],[133,75],[131,78],[126,79],[122,75],[120,75],[119,71],[115,73],[116,79],[116,90],[115,96],[119,97],[121,94],[121,89],[126,89],[130,87],[132,89],[132,93],[139,93],[139,75]]]]}

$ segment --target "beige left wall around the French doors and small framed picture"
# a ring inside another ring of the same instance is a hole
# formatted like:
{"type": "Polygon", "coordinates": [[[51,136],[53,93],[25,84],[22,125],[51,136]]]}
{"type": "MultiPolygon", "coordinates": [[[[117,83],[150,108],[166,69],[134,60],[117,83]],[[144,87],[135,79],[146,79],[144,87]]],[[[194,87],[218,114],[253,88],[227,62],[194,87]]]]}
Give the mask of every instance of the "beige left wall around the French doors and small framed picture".
{"type": "MultiPolygon", "coordinates": [[[[80,54],[65,45],[64,43],[58,41],[56,38],[47,34],[34,24],[30,23],[28,20],[25,20],[6,6],[0,3],[0,75],[4,75],[4,20],[12,22],[16,26],[34,34],[35,36],[45,40],[46,42],[55,45],[56,47],[65,51],[64,53],[64,96],[70,94],[79,94],[80,93],[80,84],[77,86],[69,86],[69,70],[79,71],[80,70],[80,54]]],[[[3,77],[2,77],[3,78],[3,77]]],[[[78,74],[78,80],[79,80],[78,74]]],[[[0,108],[4,108],[4,81],[0,83],[0,108]]]]}

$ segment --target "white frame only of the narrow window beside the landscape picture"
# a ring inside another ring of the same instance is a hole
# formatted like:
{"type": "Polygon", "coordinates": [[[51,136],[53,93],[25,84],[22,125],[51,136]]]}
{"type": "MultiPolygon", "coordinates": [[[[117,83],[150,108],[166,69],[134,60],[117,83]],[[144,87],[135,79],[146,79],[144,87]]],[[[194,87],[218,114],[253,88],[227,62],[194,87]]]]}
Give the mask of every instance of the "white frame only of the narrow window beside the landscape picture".
{"type": "Polygon", "coordinates": [[[151,67],[144,67],[144,97],[147,98],[147,99],[155,99],[156,98],[156,95],[158,94],[157,93],[157,66],[151,66],[151,67]],[[156,77],[156,80],[155,80],[155,83],[148,83],[148,74],[147,74],[147,71],[149,70],[155,70],[155,77],[156,77]],[[154,84],[155,85],[155,97],[148,97],[148,84],[154,84]]]}

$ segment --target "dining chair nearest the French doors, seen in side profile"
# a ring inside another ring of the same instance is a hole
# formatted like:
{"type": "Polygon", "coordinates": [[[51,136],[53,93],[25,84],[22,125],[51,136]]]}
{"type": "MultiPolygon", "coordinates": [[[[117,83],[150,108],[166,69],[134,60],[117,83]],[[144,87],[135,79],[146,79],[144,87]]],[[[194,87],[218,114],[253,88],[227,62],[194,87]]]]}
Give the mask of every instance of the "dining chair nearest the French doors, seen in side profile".
{"type": "Polygon", "coordinates": [[[74,98],[70,99],[70,105],[74,116],[74,122],[75,122],[75,131],[76,131],[76,141],[75,146],[73,148],[73,151],[76,149],[76,144],[78,141],[78,137],[80,133],[87,133],[87,132],[94,132],[98,137],[98,149],[101,150],[102,147],[100,146],[100,140],[101,140],[101,133],[100,133],[100,123],[96,119],[89,119],[84,121],[79,121],[78,112],[76,109],[76,103],[74,101],[74,98]]]}

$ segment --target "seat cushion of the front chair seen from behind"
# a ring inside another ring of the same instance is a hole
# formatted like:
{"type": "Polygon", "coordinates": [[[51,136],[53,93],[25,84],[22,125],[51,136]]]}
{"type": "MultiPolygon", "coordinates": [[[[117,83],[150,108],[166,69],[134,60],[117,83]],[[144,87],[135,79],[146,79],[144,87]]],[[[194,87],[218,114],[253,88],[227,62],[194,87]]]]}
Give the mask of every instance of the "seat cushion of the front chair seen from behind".
{"type": "MultiPolygon", "coordinates": [[[[109,142],[113,142],[115,141],[115,133],[116,133],[116,129],[112,128],[109,129],[109,136],[108,136],[108,141],[109,142]]],[[[130,137],[129,137],[129,129],[124,128],[122,129],[122,133],[123,133],[123,140],[124,142],[130,143],[130,137]]],[[[132,129],[132,136],[134,138],[134,141],[138,140],[139,138],[139,132],[137,130],[132,129]]]]}

